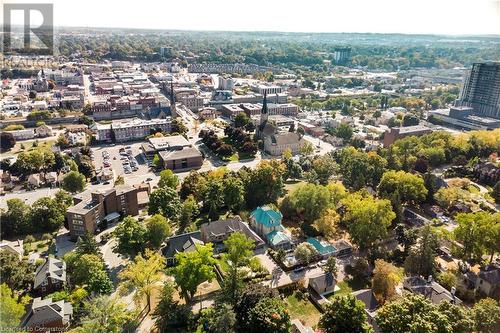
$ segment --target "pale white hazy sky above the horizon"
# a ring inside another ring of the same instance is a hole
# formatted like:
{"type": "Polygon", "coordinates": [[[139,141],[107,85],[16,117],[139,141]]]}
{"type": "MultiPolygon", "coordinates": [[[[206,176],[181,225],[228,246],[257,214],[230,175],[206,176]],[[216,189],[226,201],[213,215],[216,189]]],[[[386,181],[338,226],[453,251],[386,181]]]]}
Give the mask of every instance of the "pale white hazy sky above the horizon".
{"type": "MultiPolygon", "coordinates": [[[[2,2],[53,3],[56,26],[500,34],[500,0],[0,0],[2,2]]],[[[37,20],[41,18],[33,15],[32,21],[37,20]]]]}

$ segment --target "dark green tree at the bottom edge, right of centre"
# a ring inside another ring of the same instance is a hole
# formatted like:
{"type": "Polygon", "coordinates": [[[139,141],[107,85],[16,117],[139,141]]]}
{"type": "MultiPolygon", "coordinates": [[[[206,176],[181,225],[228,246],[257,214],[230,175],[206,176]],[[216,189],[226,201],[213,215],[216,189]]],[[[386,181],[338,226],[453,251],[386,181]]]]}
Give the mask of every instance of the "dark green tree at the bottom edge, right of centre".
{"type": "Polygon", "coordinates": [[[352,295],[335,297],[326,305],[318,326],[325,333],[371,333],[365,305],[352,295]]]}

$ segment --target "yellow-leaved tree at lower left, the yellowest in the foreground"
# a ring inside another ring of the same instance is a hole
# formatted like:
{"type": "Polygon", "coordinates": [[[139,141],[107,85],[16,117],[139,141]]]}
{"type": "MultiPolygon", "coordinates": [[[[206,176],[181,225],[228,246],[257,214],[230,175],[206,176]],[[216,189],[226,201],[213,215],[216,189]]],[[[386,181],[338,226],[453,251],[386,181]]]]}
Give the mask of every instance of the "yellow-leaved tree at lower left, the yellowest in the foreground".
{"type": "Polygon", "coordinates": [[[155,284],[161,281],[162,270],[165,267],[165,258],[158,252],[146,250],[145,256],[138,255],[134,261],[120,272],[122,290],[134,290],[134,300],[141,304],[144,298],[148,311],[151,310],[151,295],[156,288],[155,284]]]}

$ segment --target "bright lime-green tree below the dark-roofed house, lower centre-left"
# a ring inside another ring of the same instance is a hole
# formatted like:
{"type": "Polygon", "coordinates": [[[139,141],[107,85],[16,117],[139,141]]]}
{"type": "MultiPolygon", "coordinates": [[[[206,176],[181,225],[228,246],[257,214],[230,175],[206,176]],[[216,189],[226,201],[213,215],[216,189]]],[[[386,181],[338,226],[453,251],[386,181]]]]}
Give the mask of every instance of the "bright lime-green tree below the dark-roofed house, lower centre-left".
{"type": "Polygon", "coordinates": [[[215,277],[212,244],[196,245],[196,251],[179,252],[175,255],[177,266],[172,270],[175,283],[192,299],[198,286],[215,277]]]}

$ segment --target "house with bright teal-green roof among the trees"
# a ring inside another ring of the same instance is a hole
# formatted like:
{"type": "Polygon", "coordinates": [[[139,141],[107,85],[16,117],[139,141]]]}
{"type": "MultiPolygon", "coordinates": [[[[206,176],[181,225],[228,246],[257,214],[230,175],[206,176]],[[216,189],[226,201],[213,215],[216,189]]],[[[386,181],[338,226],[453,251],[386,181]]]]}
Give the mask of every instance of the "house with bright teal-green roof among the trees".
{"type": "Polygon", "coordinates": [[[281,224],[283,215],[280,211],[271,209],[268,206],[257,207],[250,214],[250,227],[273,249],[289,249],[292,247],[292,240],[284,232],[285,228],[281,224]]]}

